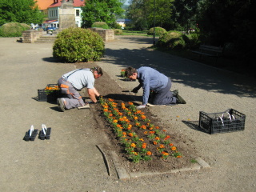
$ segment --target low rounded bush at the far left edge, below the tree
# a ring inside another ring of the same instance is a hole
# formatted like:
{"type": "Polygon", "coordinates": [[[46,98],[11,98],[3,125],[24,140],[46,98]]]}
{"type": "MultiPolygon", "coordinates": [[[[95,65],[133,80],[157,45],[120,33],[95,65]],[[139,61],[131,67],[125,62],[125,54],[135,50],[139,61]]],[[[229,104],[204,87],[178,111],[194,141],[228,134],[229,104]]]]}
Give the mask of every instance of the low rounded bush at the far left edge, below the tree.
{"type": "Polygon", "coordinates": [[[29,30],[30,26],[25,23],[9,22],[0,27],[1,37],[21,37],[22,31],[29,30]]]}

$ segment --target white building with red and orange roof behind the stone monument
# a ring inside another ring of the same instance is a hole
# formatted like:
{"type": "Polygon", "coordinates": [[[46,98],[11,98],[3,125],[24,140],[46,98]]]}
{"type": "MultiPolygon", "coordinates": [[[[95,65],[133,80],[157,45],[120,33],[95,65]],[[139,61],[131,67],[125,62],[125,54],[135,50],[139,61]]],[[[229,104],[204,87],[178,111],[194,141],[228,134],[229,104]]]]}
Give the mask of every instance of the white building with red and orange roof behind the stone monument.
{"type": "Polygon", "coordinates": [[[73,2],[75,9],[75,23],[78,27],[82,25],[82,9],[85,0],[37,0],[39,10],[42,10],[48,17],[42,26],[52,26],[58,28],[59,10],[62,8],[62,1],[73,2]]]}

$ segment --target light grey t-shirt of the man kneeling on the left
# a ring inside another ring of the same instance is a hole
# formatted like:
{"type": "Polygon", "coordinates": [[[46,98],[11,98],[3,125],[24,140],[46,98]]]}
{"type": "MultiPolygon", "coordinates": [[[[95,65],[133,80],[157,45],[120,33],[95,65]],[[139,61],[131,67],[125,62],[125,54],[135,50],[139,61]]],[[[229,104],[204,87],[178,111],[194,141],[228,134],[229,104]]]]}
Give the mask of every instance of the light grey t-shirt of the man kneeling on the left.
{"type": "Polygon", "coordinates": [[[62,78],[69,81],[76,90],[82,90],[84,87],[94,89],[95,78],[90,69],[72,70],[67,74],[63,74],[62,78]]]}

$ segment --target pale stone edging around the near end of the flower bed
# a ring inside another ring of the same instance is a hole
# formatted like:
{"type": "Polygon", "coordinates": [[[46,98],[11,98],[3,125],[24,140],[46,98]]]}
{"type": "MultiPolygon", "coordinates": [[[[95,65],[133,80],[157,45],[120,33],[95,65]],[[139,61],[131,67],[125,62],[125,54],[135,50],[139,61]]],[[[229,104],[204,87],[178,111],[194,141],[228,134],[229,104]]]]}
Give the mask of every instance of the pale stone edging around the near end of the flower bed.
{"type": "Polygon", "coordinates": [[[118,154],[115,153],[115,151],[110,151],[111,157],[114,162],[115,170],[118,174],[118,178],[120,180],[127,180],[131,178],[139,178],[139,177],[146,177],[146,176],[152,176],[152,175],[159,175],[159,174],[176,174],[180,172],[185,171],[194,171],[194,170],[201,170],[201,169],[210,169],[210,165],[205,162],[202,158],[196,158],[195,160],[197,163],[194,163],[193,166],[190,167],[183,167],[181,169],[177,170],[170,170],[166,172],[138,172],[138,173],[128,173],[125,168],[122,167],[122,165],[119,163],[118,154]]]}

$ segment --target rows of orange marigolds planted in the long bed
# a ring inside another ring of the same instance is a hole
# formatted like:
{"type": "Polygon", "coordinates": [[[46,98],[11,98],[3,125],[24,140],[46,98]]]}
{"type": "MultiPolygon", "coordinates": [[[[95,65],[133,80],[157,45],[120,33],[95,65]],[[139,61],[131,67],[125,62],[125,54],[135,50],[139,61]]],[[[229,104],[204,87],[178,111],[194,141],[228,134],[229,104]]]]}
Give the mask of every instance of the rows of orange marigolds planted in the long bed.
{"type": "Polygon", "coordinates": [[[100,98],[99,102],[102,114],[126,151],[127,158],[133,162],[182,158],[166,130],[151,123],[134,103],[117,103],[111,98],[100,98]]]}

